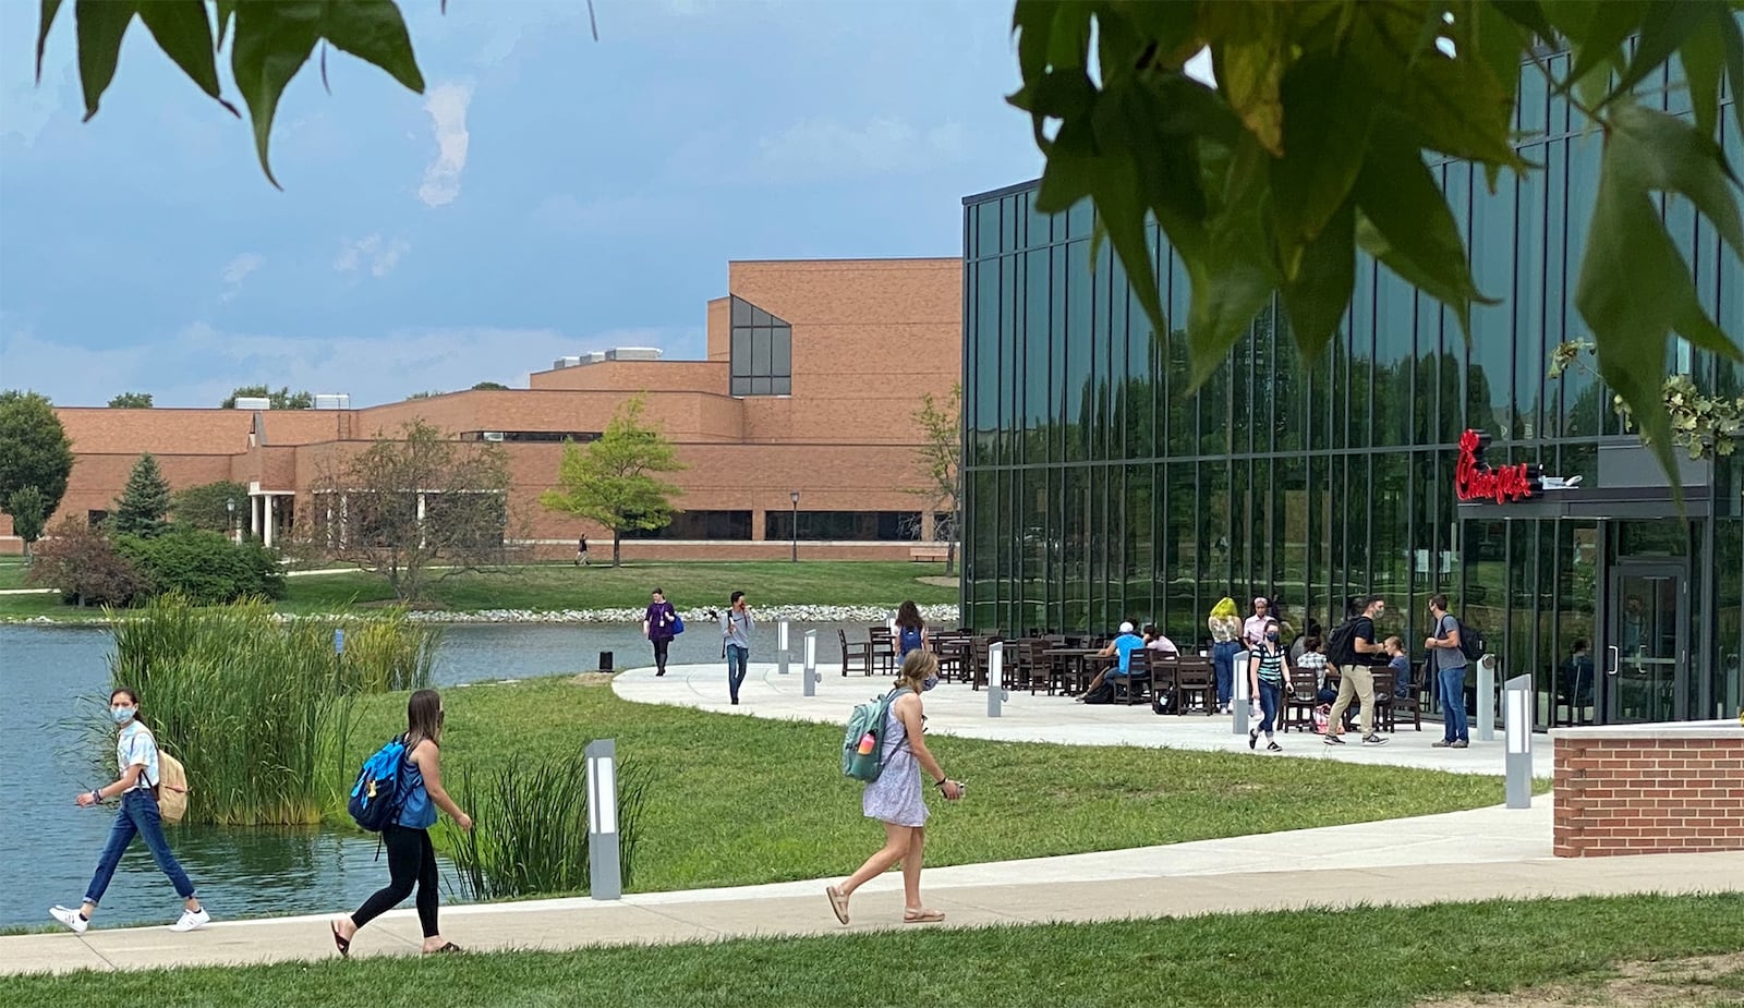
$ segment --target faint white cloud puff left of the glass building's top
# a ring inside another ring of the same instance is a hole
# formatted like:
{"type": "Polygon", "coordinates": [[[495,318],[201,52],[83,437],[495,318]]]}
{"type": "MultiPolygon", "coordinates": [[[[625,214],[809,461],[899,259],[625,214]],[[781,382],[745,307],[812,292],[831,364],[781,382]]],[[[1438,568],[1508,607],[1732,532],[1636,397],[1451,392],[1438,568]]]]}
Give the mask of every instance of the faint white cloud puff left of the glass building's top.
{"type": "Polygon", "coordinates": [[[766,138],[760,148],[752,169],[757,180],[795,181],[930,171],[963,160],[968,141],[956,122],[919,131],[896,115],[879,115],[858,127],[818,117],[766,138]]]}

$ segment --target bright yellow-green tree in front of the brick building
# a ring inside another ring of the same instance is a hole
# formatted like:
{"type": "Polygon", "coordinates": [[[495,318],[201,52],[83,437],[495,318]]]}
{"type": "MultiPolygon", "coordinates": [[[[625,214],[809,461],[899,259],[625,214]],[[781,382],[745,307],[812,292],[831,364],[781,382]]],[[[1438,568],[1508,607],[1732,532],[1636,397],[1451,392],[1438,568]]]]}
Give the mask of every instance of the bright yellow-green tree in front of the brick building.
{"type": "Polygon", "coordinates": [[[671,441],[654,424],[642,422],[644,398],[617,408],[605,432],[586,446],[563,443],[558,466],[562,490],[546,490],[539,504],[596,521],[612,532],[612,567],[619,565],[624,530],[664,528],[678,511],[671,499],[682,490],[659,473],[687,469],[671,441]]]}

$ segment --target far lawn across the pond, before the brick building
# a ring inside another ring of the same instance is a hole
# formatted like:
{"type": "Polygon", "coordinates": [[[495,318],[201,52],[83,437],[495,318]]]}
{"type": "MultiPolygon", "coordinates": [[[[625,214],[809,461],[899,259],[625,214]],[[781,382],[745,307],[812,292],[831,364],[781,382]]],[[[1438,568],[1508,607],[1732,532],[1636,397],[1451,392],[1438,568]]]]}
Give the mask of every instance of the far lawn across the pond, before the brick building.
{"type": "MultiPolygon", "coordinates": [[[[879,605],[895,609],[912,598],[921,605],[956,603],[957,589],[923,584],[940,576],[937,563],[834,560],[834,562],[682,562],[633,563],[577,569],[569,563],[504,567],[457,572],[431,582],[424,605],[467,612],[478,609],[623,609],[647,605],[649,589],[661,586],[680,609],[726,607],[732,591],[745,591],[752,605],[879,605]]],[[[0,577],[5,577],[0,567],[0,577]]],[[[23,579],[23,572],[17,574],[23,579]]],[[[5,584],[0,582],[0,588],[5,584]]],[[[284,612],[333,612],[352,603],[392,602],[387,579],[378,574],[319,574],[286,579],[284,612]]],[[[89,619],[92,612],[59,605],[54,596],[0,596],[0,617],[49,616],[89,619]]]]}

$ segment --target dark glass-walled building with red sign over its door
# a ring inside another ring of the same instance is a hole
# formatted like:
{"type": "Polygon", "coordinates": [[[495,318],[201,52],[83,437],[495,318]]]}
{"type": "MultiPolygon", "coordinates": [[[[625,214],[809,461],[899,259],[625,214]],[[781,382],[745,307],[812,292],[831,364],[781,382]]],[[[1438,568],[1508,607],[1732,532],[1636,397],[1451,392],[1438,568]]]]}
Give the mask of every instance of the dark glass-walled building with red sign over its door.
{"type": "MultiPolygon", "coordinates": [[[[1686,112],[1681,89],[1660,94],[1686,112]]],[[[1153,338],[1106,244],[1092,262],[1088,204],[1038,215],[1034,183],[964,199],[964,624],[1155,621],[1186,645],[1224,595],[1329,630],[1346,596],[1374,591],[1390,605],[1381,633],[1409,645],[1441,591],[1505,677],[1533,675],[1540,727],[1737,713],[1739,466],[1686,467],[1685,521],[1610,391],[1580,368],[1547,377],[1557,344],[1589,338],[1573,289],[1601,148],[1538,72],[1523,73],[1517,117],[1542,134],[1521,148],[1542,171],[1491,194],[1482,169],[1435,166],[1479,289],[1502,298],[1474,307],[1470,345],[1364,258],[1320,359],[1298,356],[1273,305],[1196,391],[1184,333],[1153,338]],[[1536,462],[1580,488],[1458,502],[1467,429],[1493,438],[1489,464],[1536,462]]],[[[1737,122],[1723,124],[1744,164],[1737,122]]],[[[1744,270],[1686,202],[1664,213],[1739,340],[1744,270]]],[[[1186,276],[1151,234],[1146,283],[1184,319],[1186,276]]],[[[1744,378],[1683,344],[1667,368],[1727,394],[1744,378]]]]}

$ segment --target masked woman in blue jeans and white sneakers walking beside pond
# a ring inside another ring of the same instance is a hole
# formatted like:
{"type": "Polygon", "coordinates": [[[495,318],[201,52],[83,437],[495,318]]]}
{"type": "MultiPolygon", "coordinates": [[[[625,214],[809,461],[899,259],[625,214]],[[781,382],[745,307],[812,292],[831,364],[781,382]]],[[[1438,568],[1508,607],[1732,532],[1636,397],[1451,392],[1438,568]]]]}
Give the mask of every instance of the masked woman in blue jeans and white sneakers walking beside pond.
{"type": "Polygon", "coordinates": [[[120,766],[120,778],[101,788],[80,793],[73,802],[78,807],[91,807],[106,799],[120,799],[115,809],[115,825],[110,839],[98,858],[98,870],[85,888],[85,900],[77,910],[68,907],[49,907],[49,916],[66,924],[75,935],[84,935],[91,926],[91,914],[98,912],[110,879],[120,856],[133,846],[133,837],[145,837],[145,848],[152,851],[157,868],[169,875],[169,884],[181,896],[181,917],[169,926],[171,931],[192,931],[211,921],[211,914],[194,895],[194,882],[181,870],[181,863],[169,853],[169,841],[164,839],[164,823],[157,813],[157,736],[140,720],[140,694],[120,687],[110,694],[110,719],[120,729],[115,736],[115,762],[120,766]]]}

